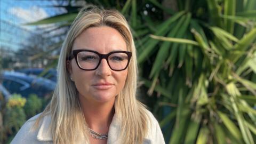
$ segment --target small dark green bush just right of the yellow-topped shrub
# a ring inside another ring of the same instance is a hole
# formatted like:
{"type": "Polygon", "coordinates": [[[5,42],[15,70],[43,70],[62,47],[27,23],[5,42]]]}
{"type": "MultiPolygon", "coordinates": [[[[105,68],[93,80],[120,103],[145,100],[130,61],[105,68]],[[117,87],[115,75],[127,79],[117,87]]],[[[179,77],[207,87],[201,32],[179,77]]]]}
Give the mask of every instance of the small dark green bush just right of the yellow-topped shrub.
{"type": "Polygon", "coordinates": [[[42,111],[42,99],[36,94],[30,94],[24,107],[27,118],[30,118],[42,111]]]}

